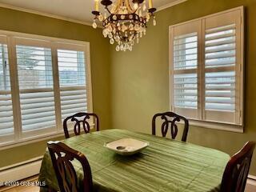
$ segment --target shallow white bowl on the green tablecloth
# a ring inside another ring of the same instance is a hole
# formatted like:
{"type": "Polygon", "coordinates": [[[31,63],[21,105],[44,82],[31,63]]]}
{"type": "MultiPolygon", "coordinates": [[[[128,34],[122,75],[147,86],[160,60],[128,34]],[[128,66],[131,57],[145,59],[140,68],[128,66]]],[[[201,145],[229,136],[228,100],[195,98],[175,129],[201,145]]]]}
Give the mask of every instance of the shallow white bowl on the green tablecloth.
{"type": "Polygon", "coordinates": [[[110,150],[114,150],[117,154],[131,155],[145,149],[150,144],[142,142],[134,138],[122,138],[114,142],[106,142],[104,146],[110,150]]]}

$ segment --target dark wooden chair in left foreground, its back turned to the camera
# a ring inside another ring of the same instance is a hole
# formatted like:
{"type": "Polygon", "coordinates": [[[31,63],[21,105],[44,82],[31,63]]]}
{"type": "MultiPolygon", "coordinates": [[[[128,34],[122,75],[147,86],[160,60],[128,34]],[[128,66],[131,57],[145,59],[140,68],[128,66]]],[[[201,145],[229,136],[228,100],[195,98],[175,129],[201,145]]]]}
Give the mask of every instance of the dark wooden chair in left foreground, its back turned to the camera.
{"type": "Polygon", "coordinates": [[[93,181],[90,164],[86,156],[62,142],[48,142],[47,146],[58,179],[59,190],[61,192],[92,192],[93,181]],[[82,165],[82,186],[81,184],[79,185],[78,175],[72,165],[74,159],[78,160],[82,165]]]}

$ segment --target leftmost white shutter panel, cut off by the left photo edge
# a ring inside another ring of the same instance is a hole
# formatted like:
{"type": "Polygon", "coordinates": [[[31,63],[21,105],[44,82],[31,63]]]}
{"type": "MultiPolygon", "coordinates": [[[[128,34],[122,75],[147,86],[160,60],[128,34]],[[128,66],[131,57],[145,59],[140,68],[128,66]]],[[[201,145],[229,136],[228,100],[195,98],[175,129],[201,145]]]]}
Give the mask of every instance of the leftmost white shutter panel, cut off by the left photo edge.
{"type": "Polygon", "coordinates": [[[0,140],[14,137],[14,116],[10,86],[10,64],[6,37],[0,36],[0,140]]]}

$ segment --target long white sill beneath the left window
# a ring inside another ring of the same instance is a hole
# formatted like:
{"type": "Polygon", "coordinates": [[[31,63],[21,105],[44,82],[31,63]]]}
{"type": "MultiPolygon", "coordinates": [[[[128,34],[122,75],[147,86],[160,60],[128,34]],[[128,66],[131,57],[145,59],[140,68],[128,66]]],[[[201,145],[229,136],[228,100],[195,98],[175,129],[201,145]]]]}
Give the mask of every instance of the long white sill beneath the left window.
{"type": "MultiPolygon", "coordinates": [[[[94,124],[90,125],[90,130],[94,130],[94,124]]],[[[72,129],[70,129],[69,131],[72,131],[72,129]]],[[[65,134],[63,130],[58,130],[48,134],[41,134],[41,135],[30,137],[30,138],[22,138],[19,141],[3,142],[0,144],[0,150],[7,150],[17,146],[25,146],[34,142],[42,142],[42,141],[46,141],[46,140],[50,140],[52,138],[58,138],[58,137],[65,138],[65,134]]]]}

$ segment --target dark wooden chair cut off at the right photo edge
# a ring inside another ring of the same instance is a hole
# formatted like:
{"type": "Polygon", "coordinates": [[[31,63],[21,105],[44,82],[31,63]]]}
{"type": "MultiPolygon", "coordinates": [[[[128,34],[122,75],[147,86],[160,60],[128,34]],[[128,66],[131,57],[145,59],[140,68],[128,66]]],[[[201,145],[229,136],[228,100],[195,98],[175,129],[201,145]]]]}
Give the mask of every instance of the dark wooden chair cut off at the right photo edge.
{"type": "Polygon", "coordinates": [[[247,142],[237,154],[234,154],[226,165],[222,177],[222,192],[243,192],[250,170],[255,142],[247,142]]]}

